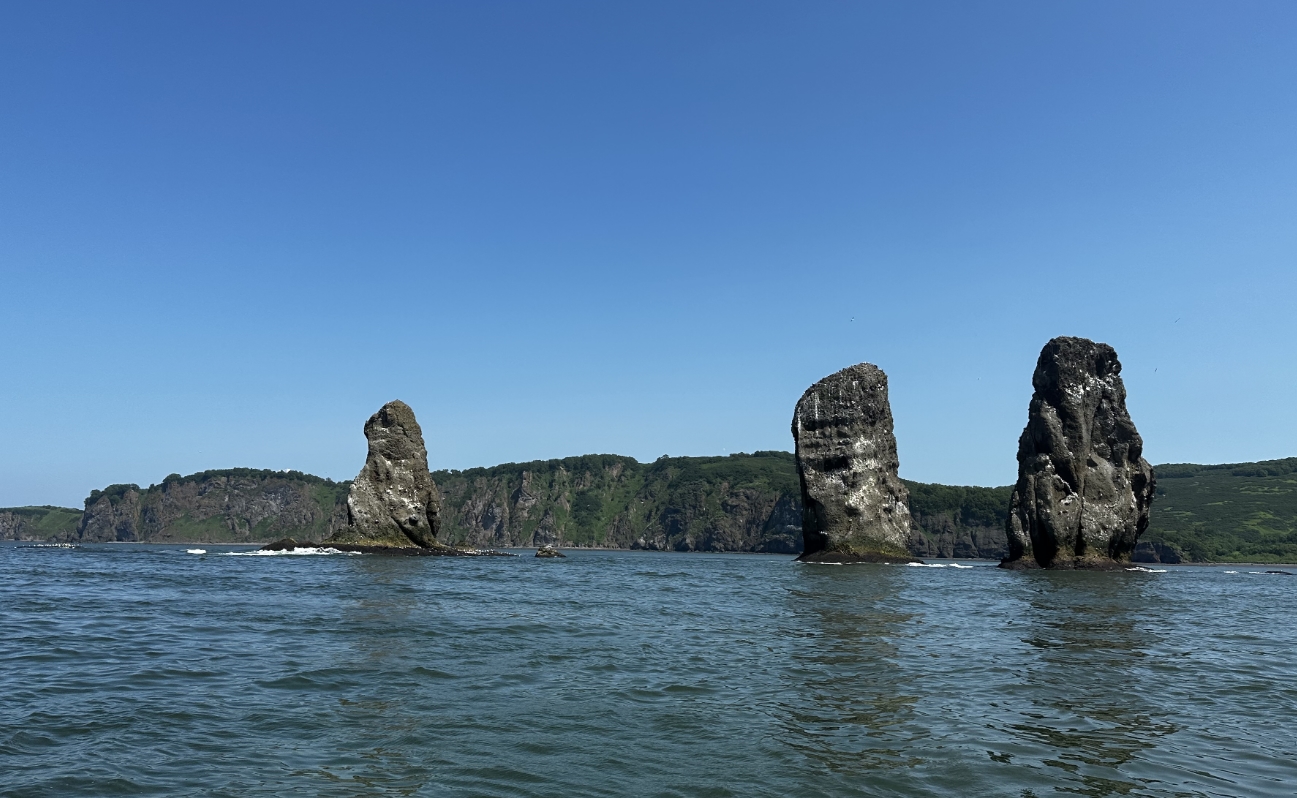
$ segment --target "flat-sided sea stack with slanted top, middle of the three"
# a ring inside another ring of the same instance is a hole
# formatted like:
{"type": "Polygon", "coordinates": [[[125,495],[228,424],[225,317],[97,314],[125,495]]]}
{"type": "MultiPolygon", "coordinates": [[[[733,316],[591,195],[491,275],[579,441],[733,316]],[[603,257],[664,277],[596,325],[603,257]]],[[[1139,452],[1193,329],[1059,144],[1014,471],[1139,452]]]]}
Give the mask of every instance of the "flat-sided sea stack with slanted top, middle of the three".
{"type": "Polygon", "coordinates": [[[811,385],[792,414],[792,440],[802,479],[800,559],[912,559],[887,375],[860,363],[811,385]]]}

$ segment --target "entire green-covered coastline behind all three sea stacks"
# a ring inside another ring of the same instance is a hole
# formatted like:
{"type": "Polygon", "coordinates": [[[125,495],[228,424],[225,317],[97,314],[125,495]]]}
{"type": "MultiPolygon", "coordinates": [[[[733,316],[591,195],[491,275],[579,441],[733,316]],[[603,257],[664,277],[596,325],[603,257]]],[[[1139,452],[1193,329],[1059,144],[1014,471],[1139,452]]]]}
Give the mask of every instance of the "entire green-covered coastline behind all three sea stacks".
{"type": "MultiPolygon", "coordinates": [[[[1297,562],[1297,458],[1157,466],[1141,541],[1196,562],[1297,562]]],[[[729,457],[590,454],[436,471],[441,537],[475,546],[556,542],[680,551],[802,548],[796,462],[787,452],[729,457]]],[[[0,509],[0,540],[262,542],[322,540],[350,483],[300,471],[224,468],[95,490],[84,514],[0,509]]],[[[1003,554],[1010,488],[905,480],[921,557],[1003,554]]]]}

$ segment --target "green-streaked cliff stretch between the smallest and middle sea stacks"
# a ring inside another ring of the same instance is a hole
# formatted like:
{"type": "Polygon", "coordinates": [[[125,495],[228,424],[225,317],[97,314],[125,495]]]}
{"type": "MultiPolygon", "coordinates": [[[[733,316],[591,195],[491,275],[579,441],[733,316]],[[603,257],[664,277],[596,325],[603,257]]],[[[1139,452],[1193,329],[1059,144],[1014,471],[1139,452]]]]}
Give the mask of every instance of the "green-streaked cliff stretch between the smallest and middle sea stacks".
{"type": "Polygon", "coordinates": [[[444,540],[471,546],[798,550],[792,458],[591,454],[440,471],[444,540]]]}

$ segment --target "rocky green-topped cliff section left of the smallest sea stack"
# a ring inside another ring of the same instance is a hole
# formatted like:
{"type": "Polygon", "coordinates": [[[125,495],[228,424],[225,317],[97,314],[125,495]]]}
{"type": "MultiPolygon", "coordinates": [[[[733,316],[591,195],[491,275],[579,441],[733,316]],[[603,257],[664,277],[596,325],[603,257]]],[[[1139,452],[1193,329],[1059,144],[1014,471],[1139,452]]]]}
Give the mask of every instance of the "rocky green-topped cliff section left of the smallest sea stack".
{"type": "Polygon", "coordinates": [[[167,478],[161,485],[110,485],[91,493],[74,541],[263,542],[319,540],[336,527],[345,483],[301,474],[233,468],[167,478]]]}

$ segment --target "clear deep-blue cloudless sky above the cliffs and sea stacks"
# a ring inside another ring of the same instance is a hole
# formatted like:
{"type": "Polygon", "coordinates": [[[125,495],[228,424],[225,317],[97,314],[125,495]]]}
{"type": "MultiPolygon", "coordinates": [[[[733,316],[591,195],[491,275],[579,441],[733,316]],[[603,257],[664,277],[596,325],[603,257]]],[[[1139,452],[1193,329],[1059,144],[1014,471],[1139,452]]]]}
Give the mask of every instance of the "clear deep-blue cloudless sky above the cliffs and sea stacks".
{"type": "Polygon", "coordinates": [[[1006,484],[1056,335],[1153,462],[1297,455],[1294,3],[4,3],[0,505],[791,449],[1006,484]]]}

